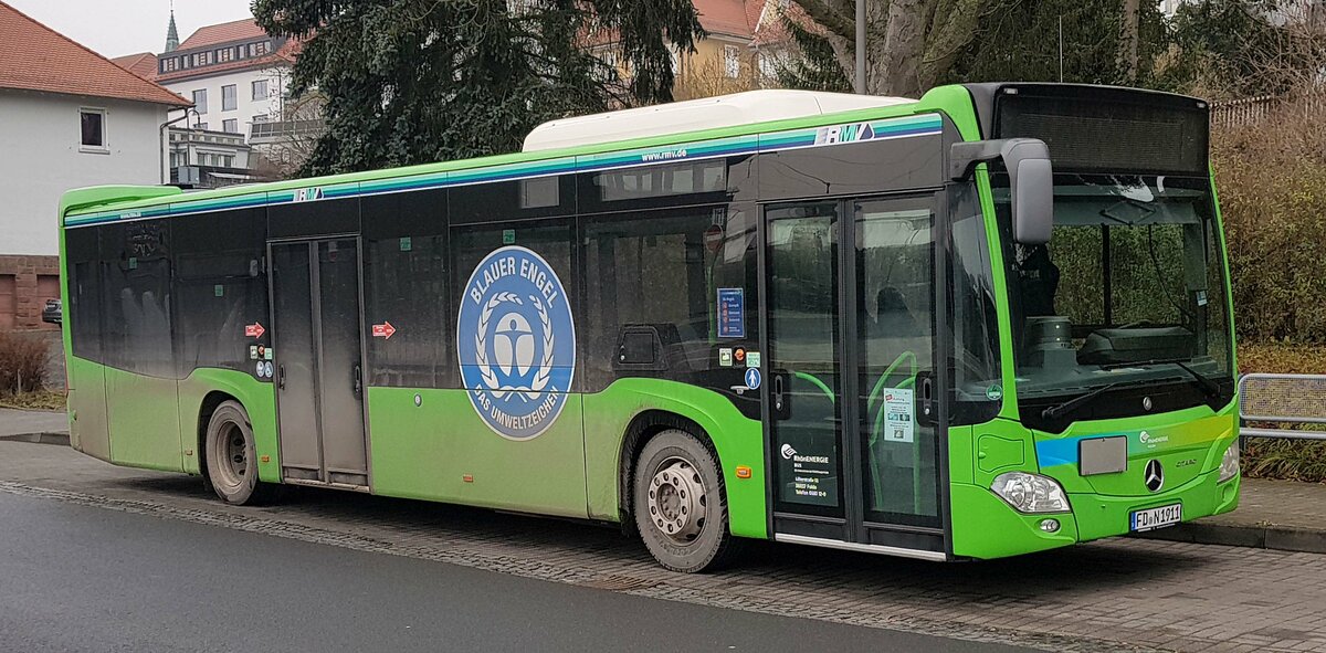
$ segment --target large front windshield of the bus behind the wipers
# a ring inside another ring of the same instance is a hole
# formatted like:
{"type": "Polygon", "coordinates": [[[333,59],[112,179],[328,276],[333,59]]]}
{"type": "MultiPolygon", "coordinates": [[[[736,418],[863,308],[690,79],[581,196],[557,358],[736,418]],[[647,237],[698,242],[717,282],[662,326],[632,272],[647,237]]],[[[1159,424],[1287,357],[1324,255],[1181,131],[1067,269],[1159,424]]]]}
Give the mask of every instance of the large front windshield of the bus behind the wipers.
{"type": "Polygon", "coordinates": [[[1208,179],[1057,174],[1050,243],[1032,247],[1009,238],[998,182],[1020,398],[1231,378],[1208,179]]]}

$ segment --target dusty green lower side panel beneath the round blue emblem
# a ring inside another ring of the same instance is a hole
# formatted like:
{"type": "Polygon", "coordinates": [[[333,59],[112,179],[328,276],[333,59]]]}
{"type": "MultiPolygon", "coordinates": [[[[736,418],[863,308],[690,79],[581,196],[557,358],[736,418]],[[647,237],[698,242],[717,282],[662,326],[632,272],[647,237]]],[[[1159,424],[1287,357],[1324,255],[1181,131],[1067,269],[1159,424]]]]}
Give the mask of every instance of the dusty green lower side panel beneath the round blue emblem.
{"type": "Polygon", "coordinates": [[[374,494],[589,516],[579,394],[541,435],[512,441],[479,418],[468,390],[369,388],[369,433],[374,494]]]}

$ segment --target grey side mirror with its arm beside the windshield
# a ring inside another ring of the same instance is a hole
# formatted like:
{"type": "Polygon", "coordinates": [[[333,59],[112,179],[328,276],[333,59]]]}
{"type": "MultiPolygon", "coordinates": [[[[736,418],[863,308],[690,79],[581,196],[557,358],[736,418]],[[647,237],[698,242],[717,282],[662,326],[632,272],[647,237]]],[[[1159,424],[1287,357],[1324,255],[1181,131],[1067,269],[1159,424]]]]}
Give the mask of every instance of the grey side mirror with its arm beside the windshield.
{"type": "Polygon", "coordinates": [[[1050,150],[1038,138],[1001,138],[953,143],[948,157],[949,177],[967,179],[977,163],[1002,159],[1008,170],[1013,208],[1013,240],[1021,244],[1050,242],[1054,227],[1054,170],[1050,150]]]}

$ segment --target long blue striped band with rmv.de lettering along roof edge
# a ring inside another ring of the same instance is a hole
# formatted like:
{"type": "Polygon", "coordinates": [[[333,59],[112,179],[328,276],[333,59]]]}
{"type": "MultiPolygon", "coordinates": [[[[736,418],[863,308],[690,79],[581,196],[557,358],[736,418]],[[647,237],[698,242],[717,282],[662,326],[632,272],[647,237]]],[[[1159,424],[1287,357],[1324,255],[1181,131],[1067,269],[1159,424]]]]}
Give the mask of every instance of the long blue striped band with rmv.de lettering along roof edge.
{"type": "MultiPolygon", "coordinates": [[[[465,186],[473,183],[492,183],[513,181],[532,177],[546,177],[565,173],[587,173],[610,170],[619,167],[634,167],[643,165],[658,165],[670,162],[696,161],[703,158],[736,157],[743,154],[756,154],[761,151],[785,150],[796,147],[823,147],[833,145],[850,145],[853,142],[878,141],[883,138],[900,138],[916,135],[939,134],[943,129],[943,118],[939,114],[908,115],[902,118],[887,118],[882,121],[862,121],[851,125],[829,125],[823,127],[804,127],[789,131],[774,131],[770,134],[749,134],[741,137],[716,138],[693,143],[679,143],[658,147],[639,147],[626,151],[587,154],[579,157],[564,157],[548,161],[534,161],[528,163],[507,163],[487,169],[456,170],[443,173],[428,173],[416,177],[370,179],[363,182],[334,183],[328,186],[310,186],[309,190],[321,191],[320,199],[341,199],[362,195],[377,195],[383,192],[414,191],[427,188],[444,188],[451,186],[465,186]],[[857,138],[854,141],[819,142],[819,134],[825,129],[845,127],[867,123],[871,129],[870,138],[857,138]]],[[[296,200],[298,188],[278,191],[260,191],[232,198],[198,199],[174,202],[163,206],[145,207],[137,211],[98,211],[82,215],[70,215],[65,219],[65,227],[85,227],[118,220],[138,220],[166,215],[190,215],[232,208],[251,208],[256,206],[288,204],[296,200]]],[[[1040,449],[1037,450],[1040,451],[1040,449]]],[[[1075,458],[1075,451],[1074,451],[1075,458]]]]}

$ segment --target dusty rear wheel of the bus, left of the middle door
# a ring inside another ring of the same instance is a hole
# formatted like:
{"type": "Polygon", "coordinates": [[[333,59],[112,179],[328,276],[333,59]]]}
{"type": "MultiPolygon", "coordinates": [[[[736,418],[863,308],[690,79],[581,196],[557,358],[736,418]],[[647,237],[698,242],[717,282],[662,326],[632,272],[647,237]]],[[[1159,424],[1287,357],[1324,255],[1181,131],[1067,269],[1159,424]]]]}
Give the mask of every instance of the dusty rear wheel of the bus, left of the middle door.
{"type": "Polygon", "coordinates": [[[248,413],[236,401],[224,401],[212,411],[204,435],[207,479],[225,503],[261,503],[271,486],[257,479],[257,451],[248,413]]]}

